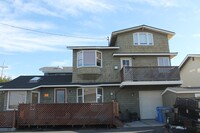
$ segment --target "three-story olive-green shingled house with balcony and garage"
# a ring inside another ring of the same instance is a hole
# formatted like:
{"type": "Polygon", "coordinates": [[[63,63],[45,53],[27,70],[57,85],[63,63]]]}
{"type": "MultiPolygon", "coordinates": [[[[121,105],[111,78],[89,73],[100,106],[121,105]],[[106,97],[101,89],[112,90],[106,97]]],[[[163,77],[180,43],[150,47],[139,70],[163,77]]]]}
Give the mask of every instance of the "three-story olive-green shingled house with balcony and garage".
{"type": "Polygon", "coordinates": [[[127,112],[154,119],[156,107],[163,105],[161,92],[181,84],[178,67],[170,61],[177,55],[168,44],[174,34],[141,25],[112,32],[109,46],[70,46],[72,73],[42,68],[44,76],[14,79],[0,89],[5,97],[3,109],[14,109],[18,104],[14,99],[25,103],[116,101],[121,119],[127,119],[127,112]]]}

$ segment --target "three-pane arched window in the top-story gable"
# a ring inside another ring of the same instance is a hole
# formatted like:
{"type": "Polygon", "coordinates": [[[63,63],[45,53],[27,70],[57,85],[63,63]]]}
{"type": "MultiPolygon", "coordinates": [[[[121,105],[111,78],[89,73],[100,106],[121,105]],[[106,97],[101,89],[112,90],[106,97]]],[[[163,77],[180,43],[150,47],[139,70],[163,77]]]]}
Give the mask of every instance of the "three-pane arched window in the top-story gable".
{"type": "Polygon", "coordinates": [[[153,45],[153,34],[137,32],[133,34],[134,45],[153,45]]]}

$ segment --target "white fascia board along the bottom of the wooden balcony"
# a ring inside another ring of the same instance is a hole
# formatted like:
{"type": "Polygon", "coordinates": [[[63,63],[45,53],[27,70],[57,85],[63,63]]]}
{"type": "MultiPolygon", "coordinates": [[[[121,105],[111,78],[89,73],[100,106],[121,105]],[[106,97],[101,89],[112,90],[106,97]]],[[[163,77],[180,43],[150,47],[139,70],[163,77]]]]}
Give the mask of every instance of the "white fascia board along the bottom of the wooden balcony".
{"type": "Polygon", "coordinates": [[[177,85],[182,84],[182,81],[124,81],[121,83],[120,87],[131,86],[131,85],[177,85]]]}

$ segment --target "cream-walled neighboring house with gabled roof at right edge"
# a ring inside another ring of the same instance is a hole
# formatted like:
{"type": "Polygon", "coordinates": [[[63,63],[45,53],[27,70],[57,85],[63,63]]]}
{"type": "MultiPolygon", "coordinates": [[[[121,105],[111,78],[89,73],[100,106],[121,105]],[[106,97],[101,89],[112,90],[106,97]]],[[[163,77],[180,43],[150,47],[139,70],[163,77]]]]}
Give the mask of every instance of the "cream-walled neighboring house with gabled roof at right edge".
{"type": "Polygon", "coordinates": [[[182,87],[200,87],[200,54],[188,54],[179,69],[182,87]]]}

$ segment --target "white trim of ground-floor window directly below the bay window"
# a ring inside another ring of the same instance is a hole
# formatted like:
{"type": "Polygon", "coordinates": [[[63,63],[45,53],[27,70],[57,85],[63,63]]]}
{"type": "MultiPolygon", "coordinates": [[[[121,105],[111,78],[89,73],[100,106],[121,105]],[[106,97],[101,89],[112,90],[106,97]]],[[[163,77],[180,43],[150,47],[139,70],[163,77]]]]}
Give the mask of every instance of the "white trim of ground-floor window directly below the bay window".
{"type": "MultiPolygon", "coordinates": [[[[98,99],[97,99],[98,87],[96,87],[96,88],[95,88],[95,87],[87,87],[87,88],[94,88],[94,89],[96,89],[96,103],[97,103],[97,102],[98,102],[98,99]]],[[[99,88],[101,88],[101,87],[99,87],[99,88]]],[[[82,102],[85,103],[85,101],[84,101],[84,99],[85,99],[85,98],[84,98],[84,96],[85,96],[84,89],[85,89],[85,88],[77,88],[77,89],[76,89],[76,102],[79,103],[79,102],[78,102],[78,90],[79,90],[79,89],[82,90],[82,102]]],[[[103,96],[104,96],[104,90],[103,90],[103,88],[101,88],[101,89],[102,89],[102,102],[104,102],[104,97],[103,97],[103,96]]]]}

